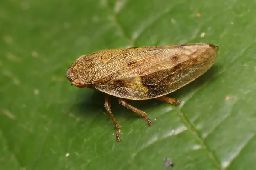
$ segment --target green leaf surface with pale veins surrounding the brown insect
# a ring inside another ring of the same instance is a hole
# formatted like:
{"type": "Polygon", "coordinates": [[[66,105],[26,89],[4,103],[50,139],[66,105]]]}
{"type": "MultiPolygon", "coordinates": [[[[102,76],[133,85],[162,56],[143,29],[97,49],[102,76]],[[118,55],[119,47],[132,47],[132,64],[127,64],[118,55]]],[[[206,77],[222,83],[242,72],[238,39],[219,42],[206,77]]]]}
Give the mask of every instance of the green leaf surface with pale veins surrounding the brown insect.
{"type": "Polygon", "coordinates": [[[256,169],[254,0],[1,0],[0,38],[0,170],[256,169]],[[65,78],[100,49],[197,42],[219,55],[182,105],[128,101],[154,126],[112,98],[119,143],[104,95],[65,78]]]}

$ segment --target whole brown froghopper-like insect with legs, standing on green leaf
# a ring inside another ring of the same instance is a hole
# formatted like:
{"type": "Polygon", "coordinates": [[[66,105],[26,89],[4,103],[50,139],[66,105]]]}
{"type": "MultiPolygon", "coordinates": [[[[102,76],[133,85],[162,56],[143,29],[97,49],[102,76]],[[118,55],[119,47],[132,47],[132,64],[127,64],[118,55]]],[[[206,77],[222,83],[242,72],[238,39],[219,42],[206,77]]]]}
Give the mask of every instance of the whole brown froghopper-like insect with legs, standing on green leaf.
{"type": "Polygon", "coordinates": [[[110,96],[153,122],[147,114],[128,104],[125,99],[158,99],[170,104],[180,101],[166,97],[195,80],[214,63],[218,46],[192,43],[170,46],[106,49],[80,56],[66,71],[66,77],[79,88],[89,87],[105,93],[105,109],[116,127],[116,141],[121,141],[120,126],[110,106],[110,96]]]}

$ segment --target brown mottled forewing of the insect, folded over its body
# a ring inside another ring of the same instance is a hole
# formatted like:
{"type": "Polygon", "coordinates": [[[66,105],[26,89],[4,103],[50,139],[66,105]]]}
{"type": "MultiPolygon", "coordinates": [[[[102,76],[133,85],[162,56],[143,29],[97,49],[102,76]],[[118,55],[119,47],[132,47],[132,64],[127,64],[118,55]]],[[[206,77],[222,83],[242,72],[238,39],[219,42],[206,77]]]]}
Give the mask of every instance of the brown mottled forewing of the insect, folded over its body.
{"type": "Polygon", "coordinates": [[[117,55],[102,66],[102,70],[109,70],[109,74],[100,74],[102,70],[96,73],[93,86],[120,98],[156,98],[179,89],[206,72],[217,56],[215,48],[210,44],[162,46],[117,55]]]}

